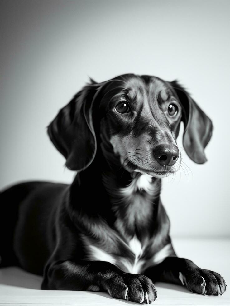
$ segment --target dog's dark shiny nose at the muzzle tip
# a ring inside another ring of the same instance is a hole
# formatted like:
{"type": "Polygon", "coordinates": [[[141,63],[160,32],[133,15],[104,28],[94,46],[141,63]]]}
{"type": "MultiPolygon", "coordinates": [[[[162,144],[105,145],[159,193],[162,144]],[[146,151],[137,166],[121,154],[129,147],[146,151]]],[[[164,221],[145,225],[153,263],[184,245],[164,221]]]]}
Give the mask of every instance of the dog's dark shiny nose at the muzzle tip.
{"type": "Polygon", "coordinates": [[[162,166],[174,165],[179,157],[178,147],[175,145],[161,144],[153,150],[156,160],[162,166]]]}

